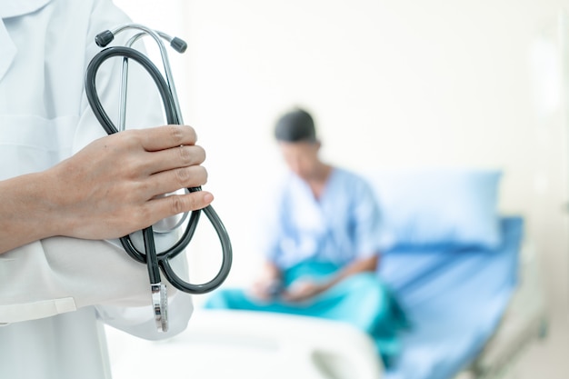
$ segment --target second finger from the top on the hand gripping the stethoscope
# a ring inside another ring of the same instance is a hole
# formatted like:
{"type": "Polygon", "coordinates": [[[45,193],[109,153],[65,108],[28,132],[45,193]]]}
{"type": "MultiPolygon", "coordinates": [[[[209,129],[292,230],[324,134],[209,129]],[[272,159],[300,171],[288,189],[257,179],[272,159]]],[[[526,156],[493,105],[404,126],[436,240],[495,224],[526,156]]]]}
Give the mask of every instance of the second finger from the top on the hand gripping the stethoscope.
{"type": "Polygon", "coordinates": [[[202,146],[180,145],[152,153],[145,167],[146,175],[174,170],[179,167],[201,165],[205,161],[205,150],[202,146]]]}

